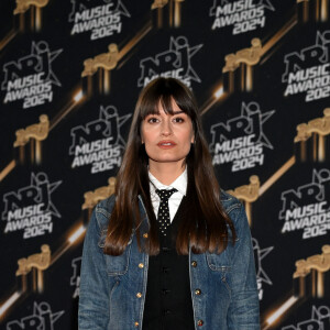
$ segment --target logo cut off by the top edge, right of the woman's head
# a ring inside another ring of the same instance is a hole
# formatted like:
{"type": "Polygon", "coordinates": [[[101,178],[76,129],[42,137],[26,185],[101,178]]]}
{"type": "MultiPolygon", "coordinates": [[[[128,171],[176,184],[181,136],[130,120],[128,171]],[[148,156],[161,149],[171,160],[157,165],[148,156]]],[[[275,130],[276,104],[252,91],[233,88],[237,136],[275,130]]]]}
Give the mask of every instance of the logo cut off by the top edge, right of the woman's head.
{"type": "Polygon", "coordinates": [[[270,0],[213,0],[210,16],[215,18],[212,30],[233,26],[232,34],[264,28],[265,9],[275,11],[270,0]]]}

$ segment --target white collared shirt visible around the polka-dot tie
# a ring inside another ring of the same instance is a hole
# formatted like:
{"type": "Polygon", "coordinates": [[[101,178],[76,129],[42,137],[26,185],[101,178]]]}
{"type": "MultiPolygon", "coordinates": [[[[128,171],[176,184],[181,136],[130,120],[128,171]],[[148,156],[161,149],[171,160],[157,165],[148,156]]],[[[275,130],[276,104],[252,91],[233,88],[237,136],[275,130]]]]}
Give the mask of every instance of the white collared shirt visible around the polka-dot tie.
{"type": "Polygon", "coordinates": [[[161,198],[156,194],[156,189],[167,189],[170,190],[172,188],[177,189],[169,198],[168,198],[168,209],[169,209],[169,219],[170,222],[174,219],[174,216],[187,193],[187,166],[183,174],[175,179],[169,186],[163,185],[160,183],[151,173],[148,173],[150,178],[150,195],[151,195],[151,201],[153,205],[153,209],[155,212],[155,216],[157,218],[158,215],[158,208],[161,204],[161,198]]]}

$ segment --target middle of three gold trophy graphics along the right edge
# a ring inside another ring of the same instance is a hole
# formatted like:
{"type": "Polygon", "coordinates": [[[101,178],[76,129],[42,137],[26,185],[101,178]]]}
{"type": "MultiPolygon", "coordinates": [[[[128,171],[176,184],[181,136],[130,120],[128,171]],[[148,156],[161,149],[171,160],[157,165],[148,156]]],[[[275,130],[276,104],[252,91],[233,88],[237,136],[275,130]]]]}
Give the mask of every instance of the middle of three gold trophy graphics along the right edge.
{"type": "Polygon", "coordinates": [[[323,117],[297,125],[295,153],[297,161],[319,162],[330,157],[330,108],[323,110],[323,117]]]}

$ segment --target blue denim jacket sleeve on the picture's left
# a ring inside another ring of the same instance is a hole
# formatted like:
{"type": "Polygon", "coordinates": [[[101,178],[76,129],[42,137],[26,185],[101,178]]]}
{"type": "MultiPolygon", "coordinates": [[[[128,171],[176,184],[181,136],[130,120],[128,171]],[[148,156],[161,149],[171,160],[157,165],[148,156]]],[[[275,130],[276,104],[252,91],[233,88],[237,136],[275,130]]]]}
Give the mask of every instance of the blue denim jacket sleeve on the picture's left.
{"type": "MultiPolygon", "coordinates": [[[[96,207],[97,209],[97,207],[96,207]]],[[[99,246],[101,229],[94,210],[84,242],[80,271],[79,330],[105,330],[109,322],[109,283],[105,255],[99,246]]]]}

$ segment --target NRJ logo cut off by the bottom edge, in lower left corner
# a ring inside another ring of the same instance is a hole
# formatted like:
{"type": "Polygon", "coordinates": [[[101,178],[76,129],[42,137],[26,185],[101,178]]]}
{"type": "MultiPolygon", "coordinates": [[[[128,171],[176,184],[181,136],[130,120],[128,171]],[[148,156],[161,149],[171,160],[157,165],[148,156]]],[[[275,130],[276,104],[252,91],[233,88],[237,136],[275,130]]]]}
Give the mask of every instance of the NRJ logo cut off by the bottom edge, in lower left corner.
{"type": "Polygon", "coordinates": [[[48,302],[33,304],[33,314],[20,320],[7,323],[7,330],[54,330],[54,323],[64,315],[64,310],[53,312],[48,302]]]}

